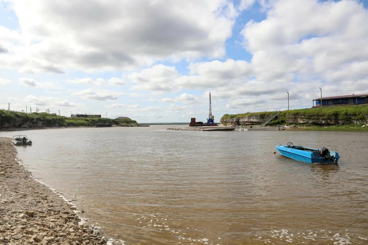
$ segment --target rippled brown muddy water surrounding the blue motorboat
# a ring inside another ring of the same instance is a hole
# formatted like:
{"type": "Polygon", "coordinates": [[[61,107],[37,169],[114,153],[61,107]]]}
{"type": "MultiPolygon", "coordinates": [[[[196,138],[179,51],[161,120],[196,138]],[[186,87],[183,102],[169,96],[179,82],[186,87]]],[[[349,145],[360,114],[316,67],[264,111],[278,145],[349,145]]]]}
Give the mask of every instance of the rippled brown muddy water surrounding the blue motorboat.
{"type": "Polygon", "coordinates": [[[125,244],[368,244],[367,133],[167,127],[21,131],[18,156],[125,244]],[[272,154],[290,141],[339,164],[272,154]]]}

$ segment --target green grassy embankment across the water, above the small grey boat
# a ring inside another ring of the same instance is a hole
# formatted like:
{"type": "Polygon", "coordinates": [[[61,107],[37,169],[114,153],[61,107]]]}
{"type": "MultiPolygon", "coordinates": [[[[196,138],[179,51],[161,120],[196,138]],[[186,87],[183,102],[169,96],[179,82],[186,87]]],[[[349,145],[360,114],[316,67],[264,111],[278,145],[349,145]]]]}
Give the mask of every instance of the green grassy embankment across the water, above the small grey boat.
{"type": "Polygon", "coordinates": [[[137,121],[128,119],[109,119],[93,117],[64,117],[48,113],[22,113],[0,110],[0,129],[5,127],[94,127],[95,123],[112,123],[118,126],[138,125],[137,121]]]}

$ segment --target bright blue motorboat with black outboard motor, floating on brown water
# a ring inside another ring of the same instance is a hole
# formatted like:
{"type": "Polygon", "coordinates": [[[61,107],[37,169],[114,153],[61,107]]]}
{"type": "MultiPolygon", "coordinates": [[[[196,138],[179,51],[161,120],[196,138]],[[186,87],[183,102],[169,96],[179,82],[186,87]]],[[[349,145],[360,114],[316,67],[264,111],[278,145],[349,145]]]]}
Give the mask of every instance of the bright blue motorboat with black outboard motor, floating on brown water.
{"type": "Polygon", "coordinates": [[[321,149],[296,146],[289,142],[287,145],[277,145],[277,151],[291,159],[304,161],[305,163],[337,163],[339,153],[329,151],[326,147],[321,149]]]}

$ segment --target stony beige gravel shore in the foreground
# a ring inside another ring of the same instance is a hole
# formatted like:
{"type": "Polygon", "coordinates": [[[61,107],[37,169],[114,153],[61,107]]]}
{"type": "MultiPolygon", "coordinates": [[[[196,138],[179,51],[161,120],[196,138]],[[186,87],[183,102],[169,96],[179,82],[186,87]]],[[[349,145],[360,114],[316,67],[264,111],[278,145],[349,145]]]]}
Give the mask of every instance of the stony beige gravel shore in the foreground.
{"type": "Polygon", "coordinates": [[[98,231],[78,225],[76,208],[35,181],[16,155],[11,139],[0,137],[0,244],[106,244],[98,231]]]}

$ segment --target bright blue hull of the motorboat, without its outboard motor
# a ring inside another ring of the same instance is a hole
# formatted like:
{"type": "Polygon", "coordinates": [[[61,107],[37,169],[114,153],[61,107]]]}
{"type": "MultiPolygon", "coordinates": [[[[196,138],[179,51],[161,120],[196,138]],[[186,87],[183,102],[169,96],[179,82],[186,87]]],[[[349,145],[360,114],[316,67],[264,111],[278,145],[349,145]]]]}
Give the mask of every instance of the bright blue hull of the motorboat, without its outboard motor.
{"type": "Polygon", "coordinates": [[[335,161],[332,161],[330,159],[325,160],[325,158],[321,156],[319,149],[307,148],[303,146],[295,146],[294,148],[289,148],[287,147],[287,145],[279,145],[276,146],[276,150],[283,156],[289,157],[297,161],[303,161],[305,163],[323,163],[323,164],[337,163],[337,161],[339,161],[340,158],[339,153],[329,151],[330,155],[334,156],[336,159],[335,161]]]}

